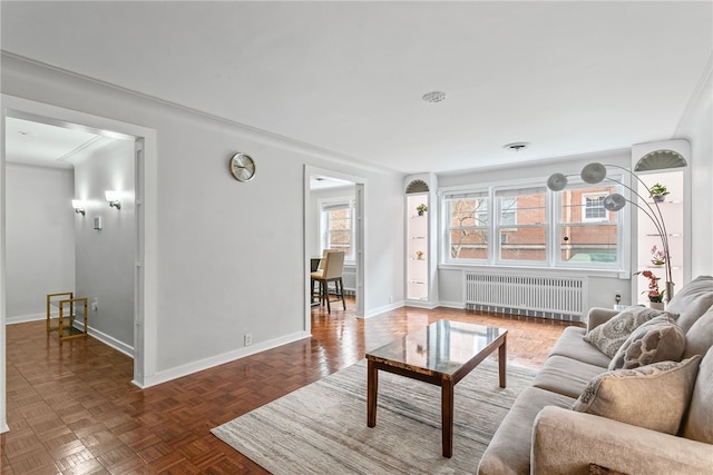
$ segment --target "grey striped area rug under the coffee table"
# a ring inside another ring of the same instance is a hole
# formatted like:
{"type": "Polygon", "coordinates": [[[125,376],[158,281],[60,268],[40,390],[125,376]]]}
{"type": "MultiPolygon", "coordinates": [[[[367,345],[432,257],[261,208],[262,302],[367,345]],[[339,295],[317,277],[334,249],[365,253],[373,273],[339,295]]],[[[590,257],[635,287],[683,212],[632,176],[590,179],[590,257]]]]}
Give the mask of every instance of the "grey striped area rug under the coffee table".
{"type": "Polygon", "coordinates": [[[440,387],[379,372],[377,426],[367,427],[367,363],[233,419],[212,433],[275,475],[475,473],[517,395],[535,377],[486,359],[456,385],[453,456],[441,456],[440,387]]]}

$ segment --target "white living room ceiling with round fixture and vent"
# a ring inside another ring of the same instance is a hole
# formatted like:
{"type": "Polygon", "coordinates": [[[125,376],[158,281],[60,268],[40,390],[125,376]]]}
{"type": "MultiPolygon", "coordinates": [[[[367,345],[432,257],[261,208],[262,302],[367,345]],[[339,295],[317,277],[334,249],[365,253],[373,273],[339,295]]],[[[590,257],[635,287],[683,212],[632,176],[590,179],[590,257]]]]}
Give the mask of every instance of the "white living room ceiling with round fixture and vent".
{"type": "Polygon", "coordinates": [[[673,137],[711,69],[712,7],[0,3],[6,51],[403,172],[673,137]]]}

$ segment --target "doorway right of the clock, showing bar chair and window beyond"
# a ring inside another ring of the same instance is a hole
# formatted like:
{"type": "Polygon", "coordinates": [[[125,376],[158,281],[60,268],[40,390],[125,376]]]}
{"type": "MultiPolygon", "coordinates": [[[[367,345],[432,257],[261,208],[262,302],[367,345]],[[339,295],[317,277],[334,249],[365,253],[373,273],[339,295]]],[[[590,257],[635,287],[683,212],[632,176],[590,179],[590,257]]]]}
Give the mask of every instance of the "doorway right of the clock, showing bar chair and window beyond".
{"type": "MultiPolygon", "coordinates": [[[[364,189],[365,179],[334,170],[305,166],[304,170],[304,260],[305,269],[310,261],[321,255],[321,249],[329,247],[324,240],[324,216],[330,209],[339,212],[346,207],[350,216],[351,238],[344,241],[348,254],[345,265],[345,288],[353,290],[355,314],[364,316],[364,189]]],[[[310,279],[305,274],[305,331],[311,329],[310,279]]]]}

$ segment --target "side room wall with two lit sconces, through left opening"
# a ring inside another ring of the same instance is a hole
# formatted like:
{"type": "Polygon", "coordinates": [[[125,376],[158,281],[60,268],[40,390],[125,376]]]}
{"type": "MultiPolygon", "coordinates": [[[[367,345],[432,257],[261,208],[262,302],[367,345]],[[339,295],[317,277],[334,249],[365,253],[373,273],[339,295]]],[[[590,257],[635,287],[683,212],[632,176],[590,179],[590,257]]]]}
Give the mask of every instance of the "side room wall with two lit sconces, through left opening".
{"type": "Polygon", "coordinates": [[[75,165],[75,197],[86,215],[76,215],[77,295],[97,303],[89,310],[90,334],[133,355],[136,215],[134,141],[111,140],[75,165]],[[105,190],[120,194],[110,208],[105,190]],[[100,217],[101,230],[92,220],[100,217]]]}

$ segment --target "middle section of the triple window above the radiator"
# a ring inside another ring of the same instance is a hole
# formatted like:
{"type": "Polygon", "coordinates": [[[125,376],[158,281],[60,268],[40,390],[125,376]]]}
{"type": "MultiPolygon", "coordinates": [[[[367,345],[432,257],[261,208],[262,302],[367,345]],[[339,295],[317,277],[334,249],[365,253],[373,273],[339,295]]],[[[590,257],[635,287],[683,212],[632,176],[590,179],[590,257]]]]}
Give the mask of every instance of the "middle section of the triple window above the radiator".
{"type": "Polygon", "coordinates": [[[547,260],[546,188],[497,190],[499,261],[547,260]]]}

